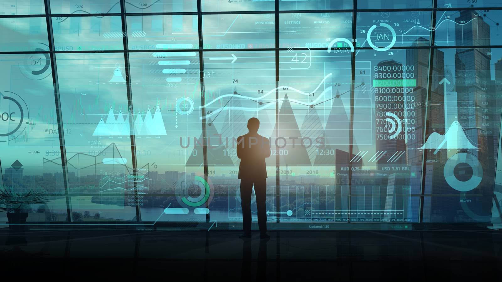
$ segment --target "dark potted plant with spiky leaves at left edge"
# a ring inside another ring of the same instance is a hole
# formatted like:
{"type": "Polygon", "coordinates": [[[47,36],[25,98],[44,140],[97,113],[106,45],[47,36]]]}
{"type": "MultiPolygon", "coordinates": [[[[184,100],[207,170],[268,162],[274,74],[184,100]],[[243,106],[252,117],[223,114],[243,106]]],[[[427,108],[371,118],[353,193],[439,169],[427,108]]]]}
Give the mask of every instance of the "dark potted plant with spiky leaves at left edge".
{"type": "Polygon", "coordinates": [[[45,204],[50,201],[46,191],[28,190],[22,193],[7,188],[0,190],[0,212],[6,211],[11,230],[22,231],[25,229],[27,212],[22,212],[32,204],[45,204]]]}

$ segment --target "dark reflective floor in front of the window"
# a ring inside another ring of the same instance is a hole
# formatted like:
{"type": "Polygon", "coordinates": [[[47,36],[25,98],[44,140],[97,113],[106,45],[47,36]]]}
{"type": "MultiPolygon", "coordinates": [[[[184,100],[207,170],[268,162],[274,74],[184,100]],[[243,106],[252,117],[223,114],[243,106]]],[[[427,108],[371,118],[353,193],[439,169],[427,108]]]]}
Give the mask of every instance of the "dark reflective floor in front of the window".
{"type": "Polygon", "coordinates": [[[502,232],[0,229],[4,275],[173,281],[482,280],[502,276],[502,232]],[[369,279],[369,280],[368,280],[369,279]]]}

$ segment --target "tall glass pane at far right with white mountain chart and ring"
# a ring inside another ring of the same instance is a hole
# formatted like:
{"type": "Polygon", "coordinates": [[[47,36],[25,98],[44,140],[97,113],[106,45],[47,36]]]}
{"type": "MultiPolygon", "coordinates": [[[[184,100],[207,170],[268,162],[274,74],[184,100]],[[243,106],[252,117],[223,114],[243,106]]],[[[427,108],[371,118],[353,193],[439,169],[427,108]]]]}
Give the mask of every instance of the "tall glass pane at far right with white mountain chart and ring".
{"type": "MultiPolygon", "coordinates": [[[[500,49],[441,49],[434,63],[443,68],[441,85],[433,90],[445,94],[444,121],[432,117],[440,127],[426,140],[429,156],[438,159],[442,177],[428,182],[424,221],[490,222],[493,203],[496,153],[502,106],[496,83],[502,66],[500,49]],[[444,122],[444,124],[443,124],[444,122]],[[442,129],[444,127],[444,129],[442,129]]],[[[442,101],[440,101],[442,102],[442,101]]],[[[438,103],[440,104],[440,103],[438,103]]],[[[440,116],[439,116],[440,118],[440,116]]],[[[429,174],[431,169],[428,169],[429,174]]]]}

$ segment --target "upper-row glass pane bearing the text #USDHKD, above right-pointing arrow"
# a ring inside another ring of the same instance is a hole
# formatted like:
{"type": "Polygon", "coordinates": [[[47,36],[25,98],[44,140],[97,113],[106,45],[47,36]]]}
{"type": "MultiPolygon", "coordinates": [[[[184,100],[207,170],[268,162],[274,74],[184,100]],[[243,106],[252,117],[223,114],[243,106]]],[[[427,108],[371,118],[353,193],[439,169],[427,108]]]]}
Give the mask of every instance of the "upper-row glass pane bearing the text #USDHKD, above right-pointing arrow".
{"type": "Polygon", "coordinates": [[[203,15],[204,49],[275,47],[273,14],[203,15]]]}

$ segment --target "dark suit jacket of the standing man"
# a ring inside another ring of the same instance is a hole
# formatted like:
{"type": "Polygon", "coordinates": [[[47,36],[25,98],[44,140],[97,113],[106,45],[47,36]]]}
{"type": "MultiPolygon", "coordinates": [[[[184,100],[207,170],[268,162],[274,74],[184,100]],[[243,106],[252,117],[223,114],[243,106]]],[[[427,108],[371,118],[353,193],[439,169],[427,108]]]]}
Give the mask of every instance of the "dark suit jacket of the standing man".
{"type": "Polygon", "coordinates": [[[240,159],[238,179],[267,178],[265,158],[270,157],[270,141],[258,133],[237,138],[237,157],[240,159]]]}

